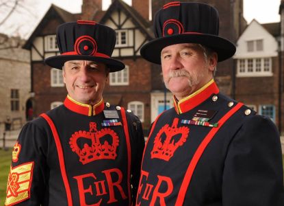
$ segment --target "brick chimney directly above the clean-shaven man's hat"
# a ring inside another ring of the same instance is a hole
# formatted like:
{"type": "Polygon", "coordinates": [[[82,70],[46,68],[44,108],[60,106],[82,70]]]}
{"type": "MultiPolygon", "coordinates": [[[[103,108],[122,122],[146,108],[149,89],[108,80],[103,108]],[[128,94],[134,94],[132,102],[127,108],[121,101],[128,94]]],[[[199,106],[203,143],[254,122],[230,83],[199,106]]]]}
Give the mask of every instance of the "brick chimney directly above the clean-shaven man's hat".
{"type": "Polygon", "coordinates": [[[83,0],[81,19],[93,20],[94,14],[102,10],[103,0],[83,0]]]}

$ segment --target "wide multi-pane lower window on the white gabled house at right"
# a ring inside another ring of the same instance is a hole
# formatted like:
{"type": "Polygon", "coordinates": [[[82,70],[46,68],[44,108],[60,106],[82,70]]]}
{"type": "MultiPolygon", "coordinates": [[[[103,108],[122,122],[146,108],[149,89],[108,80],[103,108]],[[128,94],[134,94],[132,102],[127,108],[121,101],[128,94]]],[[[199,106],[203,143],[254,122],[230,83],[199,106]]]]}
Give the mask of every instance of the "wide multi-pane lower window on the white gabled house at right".
{"type": "Polygon", "coordinates": [[[272,58],[238,59],[237,76],[272,76],[272,58]]]}

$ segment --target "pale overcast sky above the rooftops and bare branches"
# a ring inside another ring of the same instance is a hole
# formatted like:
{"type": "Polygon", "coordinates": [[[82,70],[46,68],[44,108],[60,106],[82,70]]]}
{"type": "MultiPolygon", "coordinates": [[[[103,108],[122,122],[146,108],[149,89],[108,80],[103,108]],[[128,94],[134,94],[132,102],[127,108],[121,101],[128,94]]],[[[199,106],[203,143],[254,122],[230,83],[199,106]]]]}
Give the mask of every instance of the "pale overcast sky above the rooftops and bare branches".
{"type": "MultiPolygon", "coordinates": [[[[3,1],[0,0],[0,5],[3,1]]],[[[81,12],[82,0],[19,0],[20,5],[10,18],[0,25],[0,33],[12,35],[21,35],[28,38],[36,25],[40,23],[42,17],[47,12],[51,3],[72,13],[81,12]],[[22,2],[25,2],[24,4],[22,2]],[[72,2],[72,3],[70,3],[72,2]],[[14,32],[14,31],[18,32],[14,32]],[[12,33],[13,32],[13,33],[12,33]]],[[[130,1],[131,0],[125,0],[130,1]]],[[[148,0],[141,0],[148,1],[148,0]]],[[[229,1],[229,0],[227,0],[229,1]]],[[[248,23],[256,19],[259,23],[279,22],[279,5],[281,0],[243,0],[244,1],[244,18],[248,23]]],[[[103,0],[103,8],[106,8],[107,2],[103,0]]],[[[12,6],[12,5],[10,5],[12,6]]],[[[8,14],[8,9],[0,6],[0,23],[3,16],[8,14]]]]}

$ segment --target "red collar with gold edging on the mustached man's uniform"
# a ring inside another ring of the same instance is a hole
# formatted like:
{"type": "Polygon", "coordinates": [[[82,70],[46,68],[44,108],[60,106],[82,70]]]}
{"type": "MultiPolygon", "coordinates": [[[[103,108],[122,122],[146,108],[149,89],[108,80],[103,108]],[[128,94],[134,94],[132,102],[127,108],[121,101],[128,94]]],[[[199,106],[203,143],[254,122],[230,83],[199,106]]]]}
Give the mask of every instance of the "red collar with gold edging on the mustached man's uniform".
{"type": "Polygon", "coordinates": [[[214,79],[212,79],[203,87],[201,87],[201,89],[198,89],[198,91],[192,93],[186,98],[178,101],[174,96],[175,111],[178,114],[190,111],[192,108],[207,100],[207,98],[209,98],[214,93],[219,93],[219,89],[214,79]]]}

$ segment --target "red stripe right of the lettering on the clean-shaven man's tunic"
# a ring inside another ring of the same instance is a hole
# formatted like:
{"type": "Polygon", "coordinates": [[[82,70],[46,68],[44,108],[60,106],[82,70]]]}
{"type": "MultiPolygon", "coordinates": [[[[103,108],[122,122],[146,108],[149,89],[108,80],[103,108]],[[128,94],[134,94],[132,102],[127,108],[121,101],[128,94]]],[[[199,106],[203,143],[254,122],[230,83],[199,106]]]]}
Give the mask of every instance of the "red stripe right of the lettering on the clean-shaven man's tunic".
{"type": "Polygon", "coordinates": [[[125,115],[125,108],[121,107],[121,117],[123,123],[123,129],[125,130],[125,137],[126,137],[126,144],[127,144],[127,156],[128,156],[128,163],[127,163],[127,187],[128,187],[128,196],[129,196],[129,206],[131,205],[131,192],[130,192],[130,170],[131,170],[131,145],[130,145],[130,138],[129,138],[129,130],[127,119],[125,115]]]}

